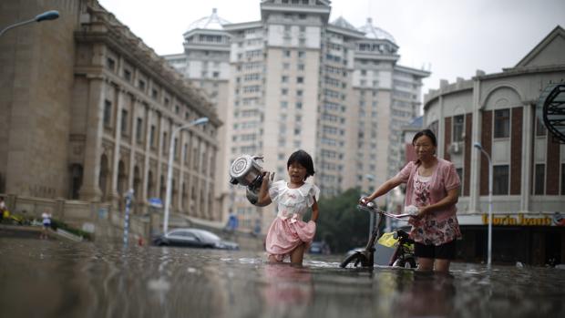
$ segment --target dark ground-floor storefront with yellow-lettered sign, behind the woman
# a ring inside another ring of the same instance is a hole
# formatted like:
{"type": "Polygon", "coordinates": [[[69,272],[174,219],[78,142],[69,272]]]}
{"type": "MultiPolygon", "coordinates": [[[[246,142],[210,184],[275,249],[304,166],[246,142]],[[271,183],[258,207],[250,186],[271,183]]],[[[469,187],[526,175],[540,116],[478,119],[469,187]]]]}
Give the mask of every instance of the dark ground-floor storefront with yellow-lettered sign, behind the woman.
{"type": "MultiPolygon", "coordinates": [[[[457,259],[486,262],[488,214],[458,215],[463,240],[457,259]]],[[[565,213],[493,214],[492,262],[531,265],[565,263],[565,213]]]]}

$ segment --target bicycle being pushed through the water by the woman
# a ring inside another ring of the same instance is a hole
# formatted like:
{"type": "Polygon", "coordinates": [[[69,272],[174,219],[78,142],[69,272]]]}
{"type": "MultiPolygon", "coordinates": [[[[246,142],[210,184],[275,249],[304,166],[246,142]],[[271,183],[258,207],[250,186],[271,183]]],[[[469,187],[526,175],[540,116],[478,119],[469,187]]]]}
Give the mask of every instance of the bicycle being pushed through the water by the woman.
{"type": "MultiPolygon", "coordinates": [[[[345,268],[349,263],[353,262],[355,268],[361,266],[373,269],[373,267],[375,266],[375,242],[378,241],[378,239],[380,239],[383,235],[381,233],[381,227],[383,225],[383,222],[385,221],[385,217],[406,221],[404,219],[406,217],[409,217],[411,214],[405,213],[395,215],[383,210],[378,210],[373,202],[369,202],[366,205],[359,204],[357,205],[357,209],[375,213],[378,216],[378,221],[376,222],[376,226],[373,229],[371,236],[369,237],[369,241],[367,242],[365,249],[361,251],[355,251],[353,254],[346,257],[344,262],[341,262],[339,266],[341,268],[345,268]]],[[[393,235],[394,239],[397,239],[398,242],[395,247],[395,252],[393,253],[388,263],[388,266],[416,268],[416,257],[414,256],[413,248],[414,241],[409,238],[406,231],[396,230],[393,235]]]]}

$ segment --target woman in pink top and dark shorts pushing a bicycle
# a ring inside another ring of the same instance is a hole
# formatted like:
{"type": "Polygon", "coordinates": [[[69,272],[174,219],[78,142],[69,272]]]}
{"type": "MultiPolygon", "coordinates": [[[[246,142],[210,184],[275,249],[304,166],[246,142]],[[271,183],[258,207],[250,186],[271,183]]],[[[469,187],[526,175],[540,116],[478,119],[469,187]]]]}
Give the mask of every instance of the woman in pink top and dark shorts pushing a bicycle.
{"type": "Polygon", "coordinates": [[[456,256],[456,240],[461,237],[456,203],[461,181],[453,163],[436,157],[437,139],[429,129],[412,139],[416,161],[409,162],[396,176],[373,194],[362,198],[366,204],[406,183],[405,206],[418,208],[410,217],[410,237],[415,243],[419,271],[448,272],[456,256]]]}

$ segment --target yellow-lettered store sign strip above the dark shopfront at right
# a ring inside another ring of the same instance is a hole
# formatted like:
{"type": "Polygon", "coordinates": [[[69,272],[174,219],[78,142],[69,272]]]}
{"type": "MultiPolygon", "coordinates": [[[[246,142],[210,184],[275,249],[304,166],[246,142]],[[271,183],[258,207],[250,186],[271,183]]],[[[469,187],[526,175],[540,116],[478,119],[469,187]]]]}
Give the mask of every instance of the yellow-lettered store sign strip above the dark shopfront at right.
{"type": "MultiPolygon", "coordinates": [[[[482,224],[488,224],[488,213],[481,216],[482,224]]],[[[565,217],[560,212],[546,215],[524,213],[492,216],[492,225],[498,226],[565,226],[565,217]]]]}

